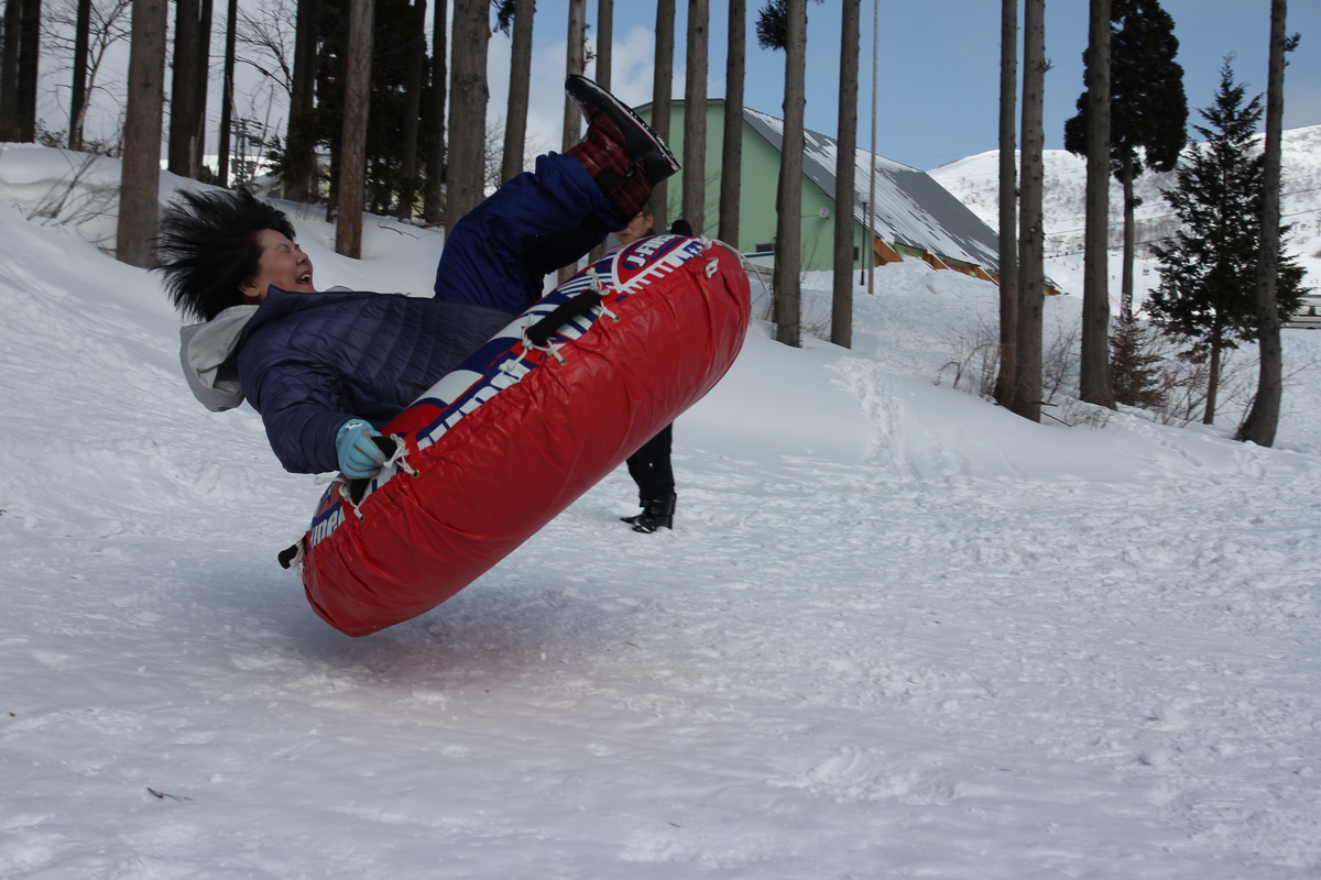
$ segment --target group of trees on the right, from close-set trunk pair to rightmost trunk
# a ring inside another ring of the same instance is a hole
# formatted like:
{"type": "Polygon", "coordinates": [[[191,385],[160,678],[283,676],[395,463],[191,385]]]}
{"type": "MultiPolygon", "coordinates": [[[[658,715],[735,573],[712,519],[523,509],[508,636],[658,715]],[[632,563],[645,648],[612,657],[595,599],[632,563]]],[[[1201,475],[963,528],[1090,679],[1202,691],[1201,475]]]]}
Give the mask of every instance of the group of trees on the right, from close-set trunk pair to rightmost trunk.
{"type": "MultiPolygon", "coordinates": [[[[1001,18],[1000,128],[1000,358],[995,398],[1008,409],[1041,421],[1041,74],[1044,0],[1025,0],[1022,73],[1015,51],[1018,30],[1015,0],[1004,0],[1001,18]],[[1016,113],[1021,82],[1022,106],[1016,113]],[[1013,121],[1021,121],[1015,144],[1013,121]],[[1011,157],[1021,156],[1021,170],[1011,157]],[[1017,219],[1017,224],[1015,224],[1017,219]],[[1011,230],[1017,228],[1015,241],[1011,230]],[[1013,278],[1013,282],[1009,282],[1013,278]]],[[[1209,127],[1197,127],[1203,144],[1188,149],[1184,70],[1174,61],[1174,21],[1159,0],[1089,0],[1090,33],[1083,55],[1086,91],[1078,115],[1065,125],[1065,145],[1087,158],[1086,253],[1078,396],[1115,409],[1118,402],[1157,401],[1153,358],[1139,351],[1145,330],[1111,322],[1108,303],[1108,182],[1124,193],[1123,309],[1132,314],[1133,178],[1144,168],[1176,170],[1177,186],[1164,191],[1181,228],[1153,251],[1161,260],[1161,285],[1147,303],[1152,330],[1173,340],[1178,358],[1206,363],[1202,394],[1205,421],[1215,414],[1222,352],[1236,342],[1259,347],[1255,400],[1236,437],[1269,446],[1279,421],[1281,385],[1280,322],[1299,305],[1301,269],[1280,256],[1279,119],[1283,115],[1284,53],[1299,44],[1287,36],[1287,0],[1271,3],[1271,119],[1264,154],[1254,132],[1260,98],[1244,103],[1226,62],[1215,106],[1202,111],[1209,127]],[[1272,135],[1273,131],[1273,135],[1272,135]],[[1112,359],[1112,355],[1118,358],[1112,359]],[[1112,375],[1119,367],[1127,372],[1112,375]],[[1116,394],[1115,389],[1122,392],[1116,394]]]]}

